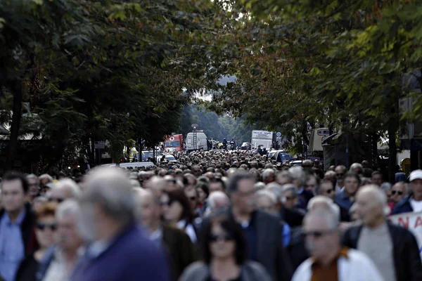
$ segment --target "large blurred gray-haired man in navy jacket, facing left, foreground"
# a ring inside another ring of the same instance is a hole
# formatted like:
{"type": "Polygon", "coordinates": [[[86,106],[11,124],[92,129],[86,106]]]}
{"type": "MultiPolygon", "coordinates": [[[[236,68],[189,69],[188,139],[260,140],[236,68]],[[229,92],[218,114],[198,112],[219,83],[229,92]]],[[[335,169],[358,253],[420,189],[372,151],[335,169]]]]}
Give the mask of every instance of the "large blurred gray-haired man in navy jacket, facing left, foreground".
{"type": "Polygon", "coordinates": [[[79,229],[92,243],[72,280],[170,280],[165,255],[138,226],[136,200],[124,171],[95,169],[86,185],[79,229]]]}

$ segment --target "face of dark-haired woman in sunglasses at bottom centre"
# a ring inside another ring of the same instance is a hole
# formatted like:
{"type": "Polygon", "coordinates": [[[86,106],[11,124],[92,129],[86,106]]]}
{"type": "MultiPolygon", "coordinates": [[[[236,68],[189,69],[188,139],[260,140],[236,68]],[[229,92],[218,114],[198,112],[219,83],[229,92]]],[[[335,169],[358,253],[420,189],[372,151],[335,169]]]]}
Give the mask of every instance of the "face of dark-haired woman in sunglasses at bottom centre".
{"type": "Polygon", "coordinates": [[[236,251],[236,242],[234,237],[218,224],[215,223],[210,233],[210,251],[212,258],[224,259],[234,256],[236,251]]]}

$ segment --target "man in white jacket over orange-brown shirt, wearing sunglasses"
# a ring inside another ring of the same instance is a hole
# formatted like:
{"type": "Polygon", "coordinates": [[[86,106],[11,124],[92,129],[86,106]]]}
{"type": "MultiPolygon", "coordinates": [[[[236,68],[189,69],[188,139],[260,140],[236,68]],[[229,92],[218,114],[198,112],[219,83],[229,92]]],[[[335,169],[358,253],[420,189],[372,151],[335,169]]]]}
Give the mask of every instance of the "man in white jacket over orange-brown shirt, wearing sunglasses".
{"type": "Polygon", "coordinates": [[[331,208],[314,209],[305,216],[306,247],[312,257],[299,266],[293,281],[383,281],[365,254],[341,246],[338,223],[331,208]]]}

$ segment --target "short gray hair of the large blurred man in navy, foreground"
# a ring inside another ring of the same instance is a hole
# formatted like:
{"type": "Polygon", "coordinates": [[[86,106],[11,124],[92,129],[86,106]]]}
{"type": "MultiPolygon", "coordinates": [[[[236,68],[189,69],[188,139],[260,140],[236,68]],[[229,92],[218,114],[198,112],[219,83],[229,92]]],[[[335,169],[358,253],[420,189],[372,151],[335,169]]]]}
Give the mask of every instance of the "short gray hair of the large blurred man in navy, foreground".
{"type": "Polygon", "coordinates": [[[127,174],[117,168],[96,168],[87,177],[82,202],[98,204],[114,221],[128,225],[135,221],[136,200],[127,174]]]}

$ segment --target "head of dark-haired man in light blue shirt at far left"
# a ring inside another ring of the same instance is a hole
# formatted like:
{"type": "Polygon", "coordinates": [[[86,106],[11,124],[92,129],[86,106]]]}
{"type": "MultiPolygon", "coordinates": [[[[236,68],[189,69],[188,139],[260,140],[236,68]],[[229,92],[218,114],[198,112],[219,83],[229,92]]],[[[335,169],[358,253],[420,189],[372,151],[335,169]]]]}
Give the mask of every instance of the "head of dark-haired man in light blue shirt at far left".
{"type": "Polygon", "coordinates": [[[1,182],[1,204],[9,214],[20,214],[27,202],[27,178],[18,171],[8,171],[1,182]]]}

